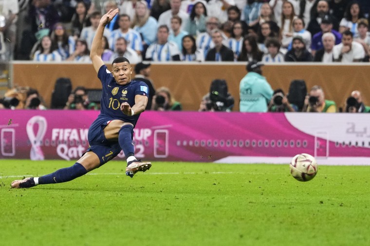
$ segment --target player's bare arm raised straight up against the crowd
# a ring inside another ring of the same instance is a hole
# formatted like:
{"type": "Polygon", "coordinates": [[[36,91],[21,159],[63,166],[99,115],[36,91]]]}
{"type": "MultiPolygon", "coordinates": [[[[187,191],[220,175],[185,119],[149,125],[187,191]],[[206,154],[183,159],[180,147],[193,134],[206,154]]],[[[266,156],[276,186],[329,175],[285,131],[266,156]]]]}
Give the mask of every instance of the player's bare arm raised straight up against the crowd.
{"type": "Polygon", "coordinates": [[[101,17],[94,39],[92,39],[90,58],[92,60],[92,65],[94,66],[96,73],[99,71],[99,68],[104,65],[104,62],[101,59],[101,54],[103,53],[102,39],[104,28],[109,22],[111,22],[111,20],[114,18],[115,15],[117,15],[118,12],[118,9],[111,9],[107,12],[107,14],[101,17]]]}

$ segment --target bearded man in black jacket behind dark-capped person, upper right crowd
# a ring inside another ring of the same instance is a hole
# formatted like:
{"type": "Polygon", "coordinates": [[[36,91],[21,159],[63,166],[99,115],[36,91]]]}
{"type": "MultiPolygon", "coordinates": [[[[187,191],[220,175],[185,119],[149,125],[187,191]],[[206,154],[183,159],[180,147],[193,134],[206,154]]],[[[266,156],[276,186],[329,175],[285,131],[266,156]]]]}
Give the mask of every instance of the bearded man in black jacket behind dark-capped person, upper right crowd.
{"type": "Polygon", "coordinates": [[[316,15],[311,17],[310,22],[308,23],[307,31],[314,35],[321,31],[321,21],[322,19],[327,16],[331,19],[333,24],[333,29],[338,31],[339,29],[339,22],[335,16],[329,13],[329,3],[326,0],[320,0],[316,6],[316,15]]]}

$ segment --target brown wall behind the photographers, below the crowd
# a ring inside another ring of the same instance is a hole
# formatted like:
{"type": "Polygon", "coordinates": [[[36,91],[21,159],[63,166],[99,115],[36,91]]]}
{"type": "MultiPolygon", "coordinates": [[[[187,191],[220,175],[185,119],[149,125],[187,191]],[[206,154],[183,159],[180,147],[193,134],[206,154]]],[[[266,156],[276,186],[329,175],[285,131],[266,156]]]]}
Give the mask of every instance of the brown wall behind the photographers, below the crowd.
{"type": "MultiPolygon", "coordinates": [[[[110,68],[110,65],[108,65],[110,68]]],[[[364,102],[370,105],[370,66],[356,65],[266,65],[263,75],[273,89],[282,88],[288,92],[292,80],[302,79],[309,90],[313,85],[321,85],[325,98],[334,100],[338,106],[343,106],[351,91],[360,90],[364,102]]],[[[239,111],[239,82],[245,76],[245,64],[152,64],[150,78],[155,88],[167,86],[176,100],[183,104],[187,111],[198,110],[201,98],[209,90],[214,79],[225,79],[231,95],[235,98],[234,111],[239,111]]],[[[134,72],[132,74],[134,76],[134,72]]],[[[85,86],[89,89],[99,89],[101,84],[91,64],[13,64],[12,81],[14,85],[31,86],[37,89],[50,105],[52,91],[56,79],[69,77],[73,88],[85,86]]]]}

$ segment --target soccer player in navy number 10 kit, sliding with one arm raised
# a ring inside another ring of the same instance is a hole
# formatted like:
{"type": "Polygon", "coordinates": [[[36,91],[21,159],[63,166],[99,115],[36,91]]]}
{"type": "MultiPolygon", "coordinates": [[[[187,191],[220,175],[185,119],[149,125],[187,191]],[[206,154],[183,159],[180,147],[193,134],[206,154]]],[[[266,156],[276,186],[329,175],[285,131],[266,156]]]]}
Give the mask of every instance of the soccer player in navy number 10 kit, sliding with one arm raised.
{"type": "Polygon", "coordinates": [[[127,158],[126,175],[145,172],[151,167],[148,162],[136,160],[132,145],[133,128],[148,103],[148,86],[144,82],[131,81],[132,68],[125,57],[117,57],[112,71],[101,59],[104,27],[118,13],[110,10],[102,16],[92,41],[90,57],[92,65],[102,82],[100,115],[92,123],[88,133],[90,147],[71,167],[57,170],[41,177],[31,177],[12,182],[12,188],[30,188],[38,184],[61,183],[73,180],[107,163],[121,150],[127,158]]]}

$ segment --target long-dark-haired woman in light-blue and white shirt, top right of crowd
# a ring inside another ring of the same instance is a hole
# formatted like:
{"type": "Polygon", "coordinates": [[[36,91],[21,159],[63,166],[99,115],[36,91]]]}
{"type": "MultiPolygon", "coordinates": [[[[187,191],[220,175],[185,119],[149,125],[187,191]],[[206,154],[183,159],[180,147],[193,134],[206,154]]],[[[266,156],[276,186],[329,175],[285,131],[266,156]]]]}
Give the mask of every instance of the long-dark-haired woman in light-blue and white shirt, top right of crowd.
{"type": "Polygon", "coordinates": [[[360,4],[354,0],[347,5],[344,17],[339,23],[339,33],[349,30],[353,35],[358,34],[357,31],[357,20],[364,18],[364,13],[360,7],[360,4]]]}

